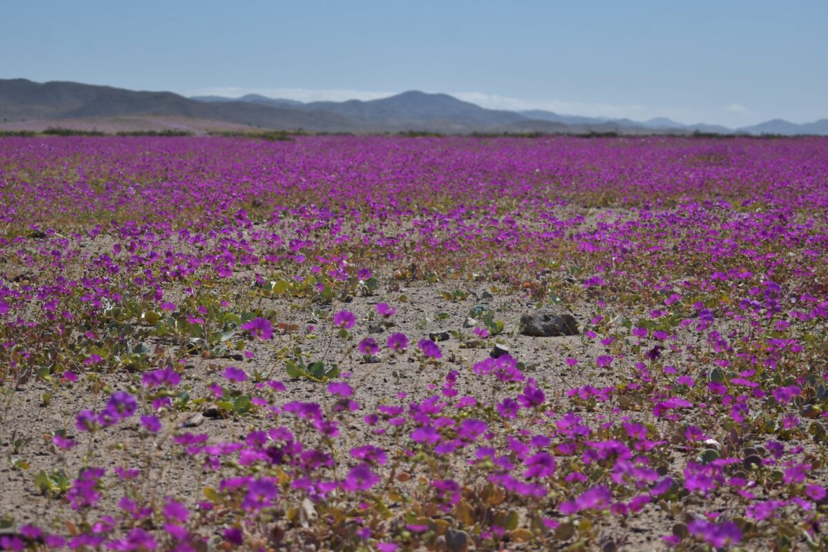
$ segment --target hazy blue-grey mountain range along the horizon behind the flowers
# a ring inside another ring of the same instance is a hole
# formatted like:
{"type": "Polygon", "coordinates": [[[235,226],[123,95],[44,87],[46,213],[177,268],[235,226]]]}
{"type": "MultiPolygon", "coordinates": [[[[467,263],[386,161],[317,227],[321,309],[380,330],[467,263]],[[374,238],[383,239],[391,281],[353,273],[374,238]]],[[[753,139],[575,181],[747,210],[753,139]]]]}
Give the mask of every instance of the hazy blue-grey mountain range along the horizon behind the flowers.
{"type": "Polygon", "coordinates": [[[243,130],[307,132],[589,133],[623,134],[816,134],[828,135],[828,119],[797,124],[773,119],[731,129],[669,118],[647,121],[590,118],[543,110],[482,108],[448,94],[409,91],[389,98],[303,103],[248,94],[241,98],[146,92],[109,86],[27,79],[0,79],[0,130],[46,127],[116,130],[243,130]]]}

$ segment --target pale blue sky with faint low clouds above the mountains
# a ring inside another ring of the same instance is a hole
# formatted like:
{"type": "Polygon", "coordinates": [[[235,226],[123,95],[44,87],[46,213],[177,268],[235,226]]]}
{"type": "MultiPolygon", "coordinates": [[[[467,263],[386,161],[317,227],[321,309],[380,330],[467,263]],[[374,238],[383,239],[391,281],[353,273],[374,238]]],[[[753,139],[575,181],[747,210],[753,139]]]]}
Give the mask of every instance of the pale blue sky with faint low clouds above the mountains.
{"type": "Polygon", "coordinates": [[[828,118],[828,0],[0,0],[0,78],[740,126],[828,118]]]}

